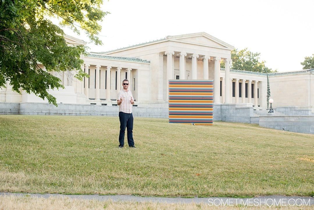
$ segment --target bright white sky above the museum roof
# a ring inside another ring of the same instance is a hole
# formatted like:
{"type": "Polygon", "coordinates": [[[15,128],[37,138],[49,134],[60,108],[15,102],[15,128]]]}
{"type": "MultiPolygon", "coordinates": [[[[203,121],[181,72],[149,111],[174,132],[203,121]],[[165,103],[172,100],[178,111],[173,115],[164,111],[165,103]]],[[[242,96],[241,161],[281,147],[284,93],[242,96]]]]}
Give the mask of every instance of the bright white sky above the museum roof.
{"type": "MultiPolygon", "coordinates": [[[[102,46],[90,52],[128,47],[166,36],[206,32],[241,50],[260,53],[268,68],[301,70],[314,54],[313,0],[104,0],[102,46]]],[[[63,29],[70,36],[89,42],[63,29]]]]}

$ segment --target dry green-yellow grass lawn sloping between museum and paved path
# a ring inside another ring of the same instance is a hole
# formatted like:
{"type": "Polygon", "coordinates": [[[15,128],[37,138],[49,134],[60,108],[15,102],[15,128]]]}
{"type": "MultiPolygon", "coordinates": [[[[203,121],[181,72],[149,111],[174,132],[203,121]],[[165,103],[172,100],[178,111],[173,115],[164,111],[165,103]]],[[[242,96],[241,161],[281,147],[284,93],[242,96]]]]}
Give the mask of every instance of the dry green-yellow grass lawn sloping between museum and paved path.
{"type": "Polygon", "coordinates": [[[256,124],[0,116],[0,191],[140,196],[314,196],[314,135],[256,124]]]}

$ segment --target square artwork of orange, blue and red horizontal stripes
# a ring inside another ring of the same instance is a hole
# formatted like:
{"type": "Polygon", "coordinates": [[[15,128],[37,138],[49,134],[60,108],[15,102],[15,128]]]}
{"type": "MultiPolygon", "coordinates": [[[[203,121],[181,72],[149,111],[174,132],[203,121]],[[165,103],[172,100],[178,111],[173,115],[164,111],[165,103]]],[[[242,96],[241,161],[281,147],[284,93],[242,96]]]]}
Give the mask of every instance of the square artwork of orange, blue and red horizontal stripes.
{"type": "Polygon", "coordinates": [[[169,123],[213,124],[213,80],[169,80],[169,123]]]}

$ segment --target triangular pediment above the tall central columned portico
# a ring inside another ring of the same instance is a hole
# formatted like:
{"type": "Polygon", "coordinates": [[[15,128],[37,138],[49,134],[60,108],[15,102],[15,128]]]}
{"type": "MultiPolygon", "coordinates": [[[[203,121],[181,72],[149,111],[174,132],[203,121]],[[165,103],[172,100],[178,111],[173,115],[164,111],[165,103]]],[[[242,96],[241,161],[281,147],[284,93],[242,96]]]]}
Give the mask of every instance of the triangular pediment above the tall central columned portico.
{"type": "Polygon", "coordinates": [[[221,41],[205,32],[177,36],[166,36],[166,40],[167,39],[210,47],[227,48],[230,50],[234,48],[230,44],[227,44],[226,42],[221,41]]]}

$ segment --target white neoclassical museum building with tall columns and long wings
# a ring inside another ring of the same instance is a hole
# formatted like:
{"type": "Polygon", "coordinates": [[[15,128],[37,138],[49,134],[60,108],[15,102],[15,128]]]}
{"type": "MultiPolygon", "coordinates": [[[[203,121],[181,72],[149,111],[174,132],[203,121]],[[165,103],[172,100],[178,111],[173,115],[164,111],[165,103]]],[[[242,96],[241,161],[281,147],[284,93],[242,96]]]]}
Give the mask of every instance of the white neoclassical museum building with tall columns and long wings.
{"type": "MultiPolygon", "coordinates": [[[[65,38],[70,45],[86,44],[71,36],[65,38]]],[[[82,55],[82,69],[89,78],[76,80],[73,77],[75,72],[70,70],[54,72],[65,89],[50,90],[50,93],[57,98],[58,104],[94,105],[95,110],[99,106],[106,110],[106,107],[116,106],[117,92],[122,88],[122,80],[127,78],[136,100],[135,106],[146,108],[146,112],[149,108],[160,108],[160,112],[164,112],[163,108],[168,108],[168,80],[214,80],[214,115],[221,115],[216,120],[224,120],[221,110],[228,105],[231,109],[250,107],[256,111],[266,110],[266,74],[230,69],[233,48],[201,32],[166,36],[108,52],[90,52],[88,56],[82,55]],[[221,61],[225,62],[225,69],[220,68],[221,61]]],[[[273,107],[313,114],[314,69],[295,70],[268,74],[273,107]]],[[[12,91],[8,82],[6,89],[0,90],[0,103],[47,103],[34,94],[23,90],[21,93],[12,91]]]]}

